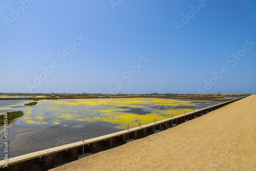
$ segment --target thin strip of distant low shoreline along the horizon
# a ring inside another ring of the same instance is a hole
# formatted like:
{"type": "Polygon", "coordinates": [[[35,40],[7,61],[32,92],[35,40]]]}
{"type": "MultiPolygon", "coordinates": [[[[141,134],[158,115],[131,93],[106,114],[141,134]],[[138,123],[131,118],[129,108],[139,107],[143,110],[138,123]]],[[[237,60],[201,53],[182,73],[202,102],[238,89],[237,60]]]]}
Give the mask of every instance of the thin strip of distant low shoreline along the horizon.
{"type": "Polygon", "coordinates": [[[57,100],[57,99],[97,99],[97,98],[168,98],[184,100],[225,101],[248,94],[30,94],[30,93],[0,93],[0,100],[57,100]],[[2,96],[2,97],[1,97],[2,96]],[[3,97],[5,96],[5,97],[3,97]],[[10,97],[8,97],[10,96],[10,97]],[[27,97],[24,97],[27,96],[27,97]]]}

